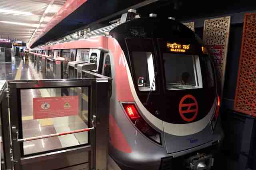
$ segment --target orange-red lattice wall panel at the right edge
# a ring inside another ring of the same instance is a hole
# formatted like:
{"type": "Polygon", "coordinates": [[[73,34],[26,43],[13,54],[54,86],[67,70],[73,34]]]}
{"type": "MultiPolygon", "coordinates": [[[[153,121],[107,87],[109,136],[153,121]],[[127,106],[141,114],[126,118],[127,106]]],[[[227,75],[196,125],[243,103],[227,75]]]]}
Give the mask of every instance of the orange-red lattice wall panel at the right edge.
{"type": "Polygon", "coordinates": [[[234,109],[256,117],[256,13],[244,16],[234,109]]]}

